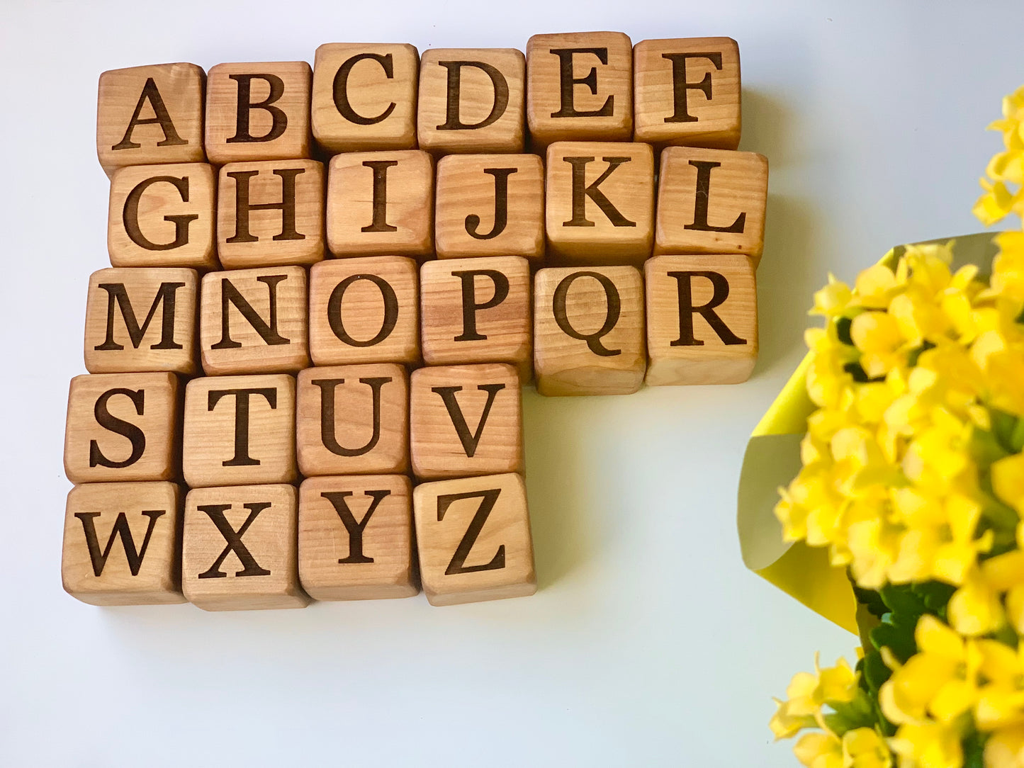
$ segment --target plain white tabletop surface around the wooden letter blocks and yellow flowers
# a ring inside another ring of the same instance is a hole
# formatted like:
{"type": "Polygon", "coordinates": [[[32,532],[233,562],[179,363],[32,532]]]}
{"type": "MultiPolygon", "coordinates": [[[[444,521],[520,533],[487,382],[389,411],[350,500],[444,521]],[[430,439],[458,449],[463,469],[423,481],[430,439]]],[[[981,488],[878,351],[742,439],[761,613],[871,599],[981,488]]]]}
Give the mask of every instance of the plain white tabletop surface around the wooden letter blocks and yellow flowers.
{"type": "Polygon", "coordinates": [[[1024,82],[1024,4],[0,2],[0,764],[796,765],[771,695],[855,640],[745,571],[746,436],[803,354],[812,291],[889,246],[979,229],[984,126],[1024,82]],[[335,41],[518,47],[534,33],[728,35],[740,148],[771,165],[762,357],[733,387],[525,397],[540,592],[206,613],[60,588],[61,442],[106,265],[96,79],[311,61],[335,41]]]}

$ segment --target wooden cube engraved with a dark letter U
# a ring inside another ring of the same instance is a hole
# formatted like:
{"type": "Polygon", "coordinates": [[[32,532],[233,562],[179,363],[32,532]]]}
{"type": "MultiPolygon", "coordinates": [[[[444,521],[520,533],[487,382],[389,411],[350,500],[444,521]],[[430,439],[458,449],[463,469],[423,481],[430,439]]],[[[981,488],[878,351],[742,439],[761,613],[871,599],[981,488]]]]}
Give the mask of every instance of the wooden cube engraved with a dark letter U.
{"type": "Polygon", "coordinates": [[[409,374],[394,362],[308,368],[298,377],[299,471],[409,471],[409,374]]]}

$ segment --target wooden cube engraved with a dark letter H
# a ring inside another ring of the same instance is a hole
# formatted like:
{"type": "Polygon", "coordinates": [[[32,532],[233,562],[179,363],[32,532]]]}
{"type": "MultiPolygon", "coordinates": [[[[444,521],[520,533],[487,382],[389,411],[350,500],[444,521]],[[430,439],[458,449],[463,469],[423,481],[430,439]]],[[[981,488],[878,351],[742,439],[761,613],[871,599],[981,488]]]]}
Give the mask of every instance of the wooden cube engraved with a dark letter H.
{"type": "Polygon", "coordinates": [[[217,255],[225,269],[324,258],[324,164],[228,163],[217,185],[217,255]]]}

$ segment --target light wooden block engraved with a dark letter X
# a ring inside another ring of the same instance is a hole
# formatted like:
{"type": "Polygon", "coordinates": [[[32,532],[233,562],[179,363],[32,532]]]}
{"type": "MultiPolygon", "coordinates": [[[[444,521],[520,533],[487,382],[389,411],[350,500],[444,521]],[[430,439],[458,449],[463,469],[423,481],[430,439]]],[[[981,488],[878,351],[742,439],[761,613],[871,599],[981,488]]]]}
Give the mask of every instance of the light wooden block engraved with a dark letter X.
{"type": "Polygon", "coordinates": [[[294,485],[193,488],[185,498],[181,586],[204,610],[304,608],[294,485]]]}

